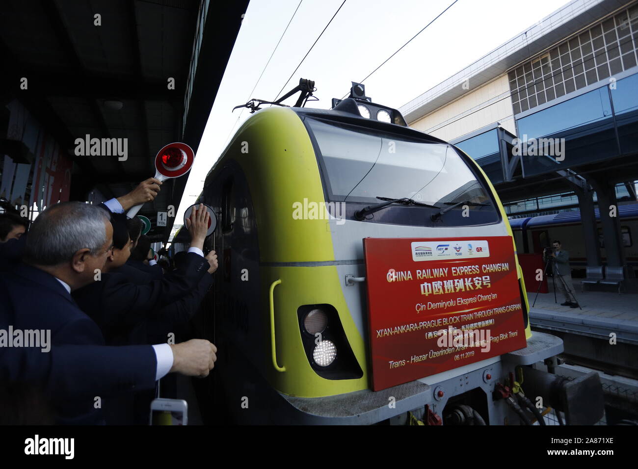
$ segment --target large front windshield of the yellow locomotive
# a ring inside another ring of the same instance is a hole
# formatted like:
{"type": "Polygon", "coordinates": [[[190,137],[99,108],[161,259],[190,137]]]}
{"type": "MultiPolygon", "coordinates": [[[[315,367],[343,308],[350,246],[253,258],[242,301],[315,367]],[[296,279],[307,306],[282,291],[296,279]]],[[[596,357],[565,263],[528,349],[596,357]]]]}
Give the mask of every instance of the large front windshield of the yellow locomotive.
{"type": "Polygon", "coordinates": [[[410,198],[420,202],[413,207],[454,212],[467,205],[480,214],[471,224],[498,221],[489,191],[452,145],[318,119],[307,118],[306,124],[318,146],[330,200],[369,205],[410,198]]]}

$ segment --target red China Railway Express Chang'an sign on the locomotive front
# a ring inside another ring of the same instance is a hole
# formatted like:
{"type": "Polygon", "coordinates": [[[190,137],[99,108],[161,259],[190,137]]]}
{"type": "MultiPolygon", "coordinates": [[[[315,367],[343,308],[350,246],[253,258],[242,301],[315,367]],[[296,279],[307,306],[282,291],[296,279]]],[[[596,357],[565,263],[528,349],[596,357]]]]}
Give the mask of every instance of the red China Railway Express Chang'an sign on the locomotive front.
{"type": "Polygon", "coordinates": [[[512,238],[366,238],[373,389],[526,346],[512,238]]]}

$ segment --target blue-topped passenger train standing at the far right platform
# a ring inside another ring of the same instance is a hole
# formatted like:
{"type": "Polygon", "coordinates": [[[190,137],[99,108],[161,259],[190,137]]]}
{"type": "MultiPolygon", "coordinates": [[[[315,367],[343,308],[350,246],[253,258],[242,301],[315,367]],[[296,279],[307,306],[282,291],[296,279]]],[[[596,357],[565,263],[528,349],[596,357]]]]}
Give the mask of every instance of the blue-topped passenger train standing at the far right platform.
{"type": "MultiPolygon", "coordinates": [[[[596,220],[600,212],[595,209],[596,220]]],[[[634,243],[634,234],[638,233],[638,204],[618,205],[618,219],[623,240],[623,258],[625,265],[638,276],[638,246],[634,243]]],[[[542,253],[543,248],[551,246],[554,239],[563,242],[570,255],[570,268],[575,277],[584,277],[587,267],[586,249],[582,236],[581,213],[579,211],[560,212],[509,221],[517,251],[519,253],[542,253]]],[[[600,256],[606,262],[605,245],[600,222],[597,221],[600,241],[600,256]]]]}

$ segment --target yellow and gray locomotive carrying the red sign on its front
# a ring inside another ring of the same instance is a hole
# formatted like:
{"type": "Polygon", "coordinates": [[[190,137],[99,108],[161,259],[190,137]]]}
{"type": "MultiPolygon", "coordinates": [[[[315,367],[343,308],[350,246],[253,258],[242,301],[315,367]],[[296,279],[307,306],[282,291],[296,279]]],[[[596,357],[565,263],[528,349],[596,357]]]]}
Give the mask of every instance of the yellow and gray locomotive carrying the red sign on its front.
{"type": "Polygon", "coordinates": [[[542,421],[512,389],[522,368],[556,357],[562,341],[531,332],[494,187],[470,156],[362,89],[353,83],[329,110],[249,103],[256,112],[205,178],[198,202],[218,216],[206,248],[219,258],[200,322],[219,351],[209,398],[239,424],[542,421]],[[400,151],[385,156],[393,145],[400,151]],[[518,283],[509,294],[521,305],[513,320],[527,346],[375,391],[362,240],[441,237],[504,237],[518,283]]]}

